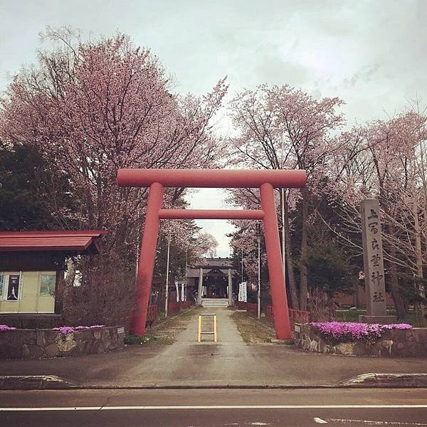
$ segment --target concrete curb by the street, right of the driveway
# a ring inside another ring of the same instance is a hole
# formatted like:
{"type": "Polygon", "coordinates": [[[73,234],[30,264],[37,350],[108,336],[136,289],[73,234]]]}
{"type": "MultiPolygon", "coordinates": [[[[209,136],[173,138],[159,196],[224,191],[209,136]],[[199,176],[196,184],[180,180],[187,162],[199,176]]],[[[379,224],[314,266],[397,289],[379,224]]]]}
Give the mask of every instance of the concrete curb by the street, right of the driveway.
{"type": "Polygon", "coordinates": [[[427,374],[376,374],[369,372],[342,381],[342,387],[416,388],[427,387],[427,374]]]}

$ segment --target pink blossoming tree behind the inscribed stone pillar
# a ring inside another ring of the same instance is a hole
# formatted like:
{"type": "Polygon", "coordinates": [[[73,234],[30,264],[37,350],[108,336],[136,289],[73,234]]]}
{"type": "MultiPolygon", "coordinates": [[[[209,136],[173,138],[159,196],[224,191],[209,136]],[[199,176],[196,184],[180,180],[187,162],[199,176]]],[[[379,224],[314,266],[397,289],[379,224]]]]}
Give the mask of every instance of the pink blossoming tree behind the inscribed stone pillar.
{"type": "Polygon", "coordinates": [[[420,319],[421,302],[426,302],[426,123],[424,115],[409,111],[346,132],[330,167],[330,188],[342,218],[335,230],[359,252],[360,243],[354,241],[361,232],[358,206],[366,197],[379,199],[388,283],[400,318],[407,312],[399,273],[413,277],[420,319]]]}

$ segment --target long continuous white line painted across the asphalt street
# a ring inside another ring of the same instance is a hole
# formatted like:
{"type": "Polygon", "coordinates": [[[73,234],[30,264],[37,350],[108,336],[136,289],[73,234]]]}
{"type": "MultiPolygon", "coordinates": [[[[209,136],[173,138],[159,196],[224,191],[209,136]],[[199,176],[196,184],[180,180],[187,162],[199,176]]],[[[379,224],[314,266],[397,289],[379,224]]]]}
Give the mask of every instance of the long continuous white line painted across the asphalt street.
{"type": "Polygon", "coordinates": [[[183,405],[183,406],[52,406],[52,407],[21,407],[0,408],[3,412],[31,412],[31,411],[158,411],[183,409],[404,409],[427,408],[426,405],[183,405]]]}

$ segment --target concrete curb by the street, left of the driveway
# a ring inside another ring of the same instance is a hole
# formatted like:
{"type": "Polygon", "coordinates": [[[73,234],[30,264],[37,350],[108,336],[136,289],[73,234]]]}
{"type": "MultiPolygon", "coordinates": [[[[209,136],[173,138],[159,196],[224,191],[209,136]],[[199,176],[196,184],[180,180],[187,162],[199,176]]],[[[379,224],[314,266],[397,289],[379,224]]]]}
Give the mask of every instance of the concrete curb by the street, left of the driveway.
{"type": "Polygon", "coordinates": [[[56,375],[0,376],[0,390],[55,390],[73,387],[56,375]]]}

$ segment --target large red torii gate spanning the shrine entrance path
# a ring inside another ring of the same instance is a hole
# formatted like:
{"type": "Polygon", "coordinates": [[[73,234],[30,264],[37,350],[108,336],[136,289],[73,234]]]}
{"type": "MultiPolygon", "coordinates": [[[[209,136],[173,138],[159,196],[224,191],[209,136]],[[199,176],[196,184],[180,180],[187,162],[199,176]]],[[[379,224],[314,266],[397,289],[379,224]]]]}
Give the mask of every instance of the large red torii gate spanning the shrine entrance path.
{"type": "Polygon", "coordinates": [[[302,170],[223,170],[223,169],[119,169],[119,186],[149,186],[147,214],[142,235],[137,274],[132,332],[143,335],[152,288],[154,258],[160,219],[262,219],[268,258],[275,331],[278,339],[290,339],[288,300],[283,274],[274,188],[302,188],[302,170]],[[162,209],[164,187],[256,188],[260,189],[262,210],[162,209]]]}

